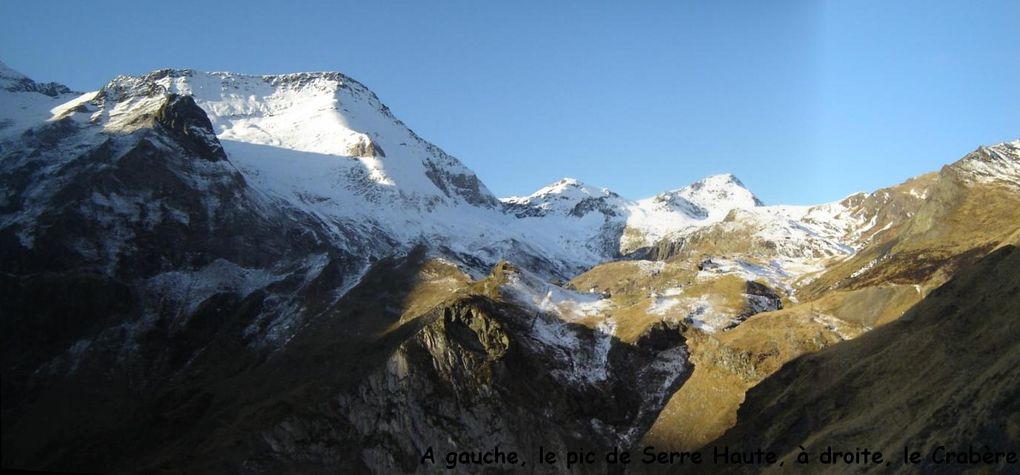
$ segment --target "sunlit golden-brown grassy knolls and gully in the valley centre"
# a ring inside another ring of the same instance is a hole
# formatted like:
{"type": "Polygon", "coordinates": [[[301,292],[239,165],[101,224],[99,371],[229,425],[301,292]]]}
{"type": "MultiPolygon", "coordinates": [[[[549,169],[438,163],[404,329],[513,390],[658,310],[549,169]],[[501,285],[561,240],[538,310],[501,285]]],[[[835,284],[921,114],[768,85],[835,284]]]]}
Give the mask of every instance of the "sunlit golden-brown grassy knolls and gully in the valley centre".
{"type": "MultiPolygon", "coordinates": [[[[704,299],[702,302],[709,303],[713,313],[735,317],[748,305],[745,280],[733,275],[699,278],[697,262],[697,258],[673,259],[657,266],[649,262],[611,262],[575,277],[571,284],[581,291],[611,293],[613,306],[608,313],[617,322],[616,336],[623,341],[632,341],[664,319],[682,321],[691,311],[684,302],[691,300],[704,299]],[[674,298],[681,303],[661,314],[650,313],[655,300],[650,296],[666,288],[680,288],[682,294],[674,298]]],[[[711,334],[683,325],[694,374],[670,399],[643,442],[690,450],[718,437],[736,422],[736,410],[749,387],[806,352],[842,341],[840,331],[845,336],[863,331],[861,324],[833,320],[830,315],[835,310],[855,302],[857,305],[846,307],[866,310],[854,313],[857,321],[876,320],[882,313],[870,306],[881,304],[884,308],[886,302],[901,294],[917,292],[907,285],[903,289],[839,293],[824,305],[762,313],[733,329],[711,334]],[[833,323],[839,326],[838,331],[831,327],[833,323]]]]}

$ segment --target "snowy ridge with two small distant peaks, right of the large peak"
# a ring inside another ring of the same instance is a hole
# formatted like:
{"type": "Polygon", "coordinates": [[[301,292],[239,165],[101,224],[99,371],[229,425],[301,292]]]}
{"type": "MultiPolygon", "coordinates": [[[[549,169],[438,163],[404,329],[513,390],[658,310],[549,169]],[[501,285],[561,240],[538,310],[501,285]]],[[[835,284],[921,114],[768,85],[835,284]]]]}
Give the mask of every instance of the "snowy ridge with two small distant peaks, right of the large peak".
{"type": "MultiPolygon", "coordinates": [[[[594,251],[601,249],[607,257],[708,233],[715,241],[728,234],[737,241],[759,242],[778,257],[826,258],[853,252],[845,236],[852,235],[848,228],[860,224],[850,218],[835,222],[808,218],[819,217],[822,209],[764,206],[728,173],[639,201],[563,178],[530,196],[503,202],[530,235],[552,234],[546,238],[558,240],[561,248],[580,243],[594,251]]],[[[840,202],[823,207],[833,215],[846,208],[840,202]]]]}

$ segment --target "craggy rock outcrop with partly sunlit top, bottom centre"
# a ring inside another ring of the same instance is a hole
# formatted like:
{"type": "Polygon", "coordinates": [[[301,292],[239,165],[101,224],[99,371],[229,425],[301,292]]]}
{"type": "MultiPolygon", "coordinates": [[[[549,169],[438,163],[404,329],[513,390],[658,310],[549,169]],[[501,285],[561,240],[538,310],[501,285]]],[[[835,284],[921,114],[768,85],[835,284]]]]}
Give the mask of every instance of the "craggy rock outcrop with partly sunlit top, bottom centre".
{"type": "MultiPolygon", "coordinates": [[[[429,446],[444,455],[499,445],[527,457],[540,444],[561,453],[630,446],[690,373],[683,337],[662,325],[629,345],[486,298],[423,318],[384,367],[329,404],[336,420],[327,424],[374,441],[362,443],[360,459],[379,472],[418,469],[429,446]],[[575,339],[572,352],[536,336],[550,330],[575,339]],[[602,378],[578,378],[571,366],[600,359],[602,378]]],[[[316,423],[289,418],[271,430],[272,463],[323,457],[309,453],[315,448],[302,441],[306,430],[293,429],[316,423]]]]}

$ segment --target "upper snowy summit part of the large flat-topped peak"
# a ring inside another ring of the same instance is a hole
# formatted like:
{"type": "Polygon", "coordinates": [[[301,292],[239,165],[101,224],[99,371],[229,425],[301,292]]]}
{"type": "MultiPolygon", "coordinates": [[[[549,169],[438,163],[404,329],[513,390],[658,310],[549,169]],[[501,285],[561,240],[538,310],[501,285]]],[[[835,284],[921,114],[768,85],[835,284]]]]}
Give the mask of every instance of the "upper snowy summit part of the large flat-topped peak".
{"type": "Polygon", "coordinates": [[[365,196],[390,197],[386,200],[423,210],[442,203],[499,207],[470,169],[419,138],[375,94],[339,72],[248,75],[160,69],[118,76],[101,94],[123,103],[166,94],[192,96],[228,154],[262,156],[285,149],[350,159],[343,173],[359,176],[353,186],[365,196]]]}

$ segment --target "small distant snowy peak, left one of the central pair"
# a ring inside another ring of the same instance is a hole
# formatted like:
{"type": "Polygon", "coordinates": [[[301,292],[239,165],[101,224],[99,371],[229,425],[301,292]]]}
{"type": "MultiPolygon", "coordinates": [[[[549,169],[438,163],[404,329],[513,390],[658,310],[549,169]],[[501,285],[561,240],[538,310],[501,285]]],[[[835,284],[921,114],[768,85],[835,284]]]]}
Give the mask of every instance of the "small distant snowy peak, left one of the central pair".
{"type": "Polygon", "coordinates": [[[548,215],[584,217],[592,212],[606,218],[620,216],[626,200],[605,188],[590,187],[574,178],[563,178],[526,197],[503,199],[507,210],[519,218],[548,215]]]}

